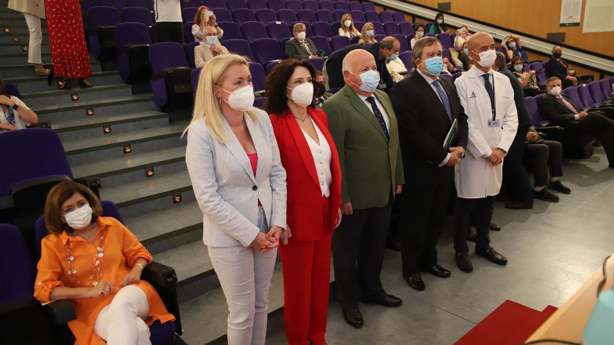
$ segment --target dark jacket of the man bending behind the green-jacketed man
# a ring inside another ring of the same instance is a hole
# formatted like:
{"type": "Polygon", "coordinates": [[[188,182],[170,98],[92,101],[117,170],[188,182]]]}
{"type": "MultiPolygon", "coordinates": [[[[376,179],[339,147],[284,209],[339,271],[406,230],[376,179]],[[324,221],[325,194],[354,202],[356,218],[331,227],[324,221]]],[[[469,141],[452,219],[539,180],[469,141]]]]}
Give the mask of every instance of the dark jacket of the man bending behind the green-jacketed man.
{"type": "Polygon", "coordinates": [[[326,60],[326,72],[328,74],[328,87],[336,88],[343,87],[345,81],[343,80],[343,72],[341,71],[341,64],[343,58],[348,55],[349,52],[355,49],[364,49],[370,52],[375,58],[375,63],[378,66],[380,83],[386,83],[386,90],[390,90],[394,86],[394,81],[386,68],[386,58],[382,57],[379,53],[379,43],[357,43],[348,45],[340,50],[336,50],[332,54],[328,55],[326,60]]]}

